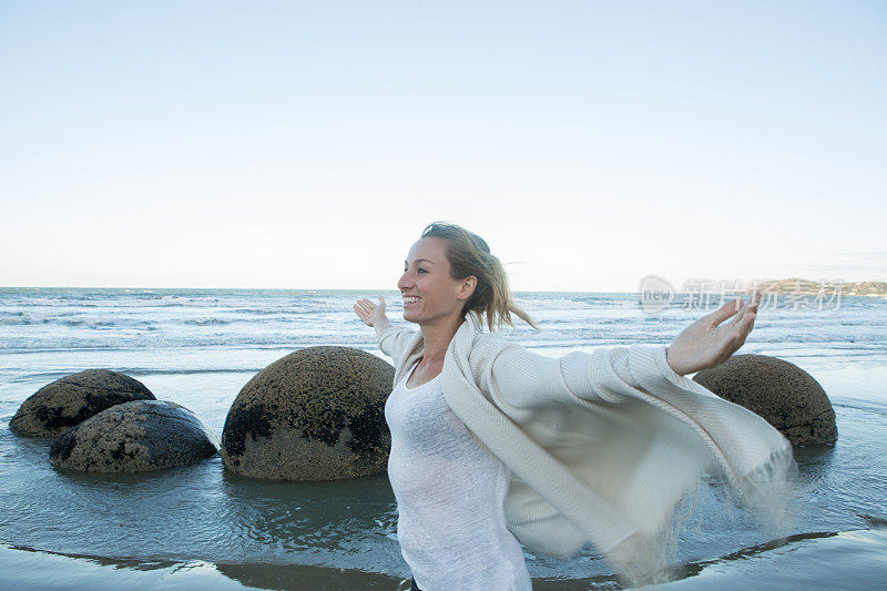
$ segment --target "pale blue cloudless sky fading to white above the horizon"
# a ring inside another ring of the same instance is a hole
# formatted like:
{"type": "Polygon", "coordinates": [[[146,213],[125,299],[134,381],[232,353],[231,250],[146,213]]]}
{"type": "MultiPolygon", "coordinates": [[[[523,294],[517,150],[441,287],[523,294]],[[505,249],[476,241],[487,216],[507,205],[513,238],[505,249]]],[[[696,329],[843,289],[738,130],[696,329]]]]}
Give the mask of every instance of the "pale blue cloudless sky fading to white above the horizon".
{"type": "Polygon", "coordinates": [[[0,1],[0,285],[887,281],[887,2],[0,1]]]}

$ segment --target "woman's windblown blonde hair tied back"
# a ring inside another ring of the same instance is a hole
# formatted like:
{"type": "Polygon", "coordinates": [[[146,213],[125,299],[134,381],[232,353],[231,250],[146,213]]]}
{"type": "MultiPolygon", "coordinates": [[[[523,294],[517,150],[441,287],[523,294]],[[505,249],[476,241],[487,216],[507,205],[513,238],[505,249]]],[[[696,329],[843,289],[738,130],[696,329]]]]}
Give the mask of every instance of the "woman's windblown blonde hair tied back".
{"type": "Polygon", "coordinates": [[[473,312],[479,318],[487,317],[490,332],[497,330],[502,323],[513,328],[511,314],[539,330],[530,316],[514,305],[508,273],[498,257],[490,253],[487,242],[458,224],[450,222],[432,222],[425,226],[421,236],[443,238],[447,241],[447,261],[450,263],[450,277],[463,279],[473,275],[478,282],[475,293],[462,307],[462,315],[473,312]]]}

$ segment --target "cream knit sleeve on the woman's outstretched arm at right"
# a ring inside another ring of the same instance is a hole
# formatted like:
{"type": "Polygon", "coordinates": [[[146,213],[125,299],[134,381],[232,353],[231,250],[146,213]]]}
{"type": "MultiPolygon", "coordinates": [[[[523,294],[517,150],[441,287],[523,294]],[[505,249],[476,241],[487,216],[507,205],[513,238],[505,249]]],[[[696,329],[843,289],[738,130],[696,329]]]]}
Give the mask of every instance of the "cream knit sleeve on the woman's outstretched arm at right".
{"type": "Polygon", "coordinates": [[[510,343],[491,364],[495,390],[514,407],[575,398],[612,404],[634,397],[636,389],[692,389],[714,396],[676,374],[665,360],[665,345],[619,345],[561,357],[540,355],[510,343]],[[696,387],[693,387],[693,386],[696,387]]]}

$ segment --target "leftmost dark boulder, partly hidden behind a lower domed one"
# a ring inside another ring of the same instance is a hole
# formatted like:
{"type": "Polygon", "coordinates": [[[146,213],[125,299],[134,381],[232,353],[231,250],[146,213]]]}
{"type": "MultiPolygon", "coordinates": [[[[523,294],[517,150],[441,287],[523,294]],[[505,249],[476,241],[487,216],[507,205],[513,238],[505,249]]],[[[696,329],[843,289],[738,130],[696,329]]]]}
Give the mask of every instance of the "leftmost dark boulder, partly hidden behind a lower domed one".
{"type": "Polygon", "coordinates": [[[110,369],[86,369],[32,394],[21,404],[9,428],[27,437],[58,437],[114,405],[155,399],[135,378],[110,369]]]}

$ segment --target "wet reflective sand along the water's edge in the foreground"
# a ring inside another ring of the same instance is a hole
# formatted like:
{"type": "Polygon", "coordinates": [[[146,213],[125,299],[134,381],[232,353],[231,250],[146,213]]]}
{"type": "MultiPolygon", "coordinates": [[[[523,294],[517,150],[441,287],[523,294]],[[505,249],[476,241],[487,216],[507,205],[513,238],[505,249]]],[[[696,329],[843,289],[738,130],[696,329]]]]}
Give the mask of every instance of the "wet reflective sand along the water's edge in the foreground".
{"type": "MultiPolygon", "coordinates": [[[[662,590],[717,588],[834,589],[836,575],[855,589],[879,589],[887,580],[887,527],[789,536],[715,560],[691,562],[682,578],[649,585],[662,590]],[[833,560],[843,557],[843,561],[833,560]],[[827,573],[827,575],[825,575],[827,573]]],[[[887,522],[885,522],[887,523],[887,522]]],[[[0,579],[17,590],[162,587],[188,591],[225,589],[406,591],[409,577],[305,564],[213,563],[194,559],[111,558],[67,554],[0,541],[0,579]]],[[[536,591],[623,589],[612,575],[583,579],[533,578],[536,591]]]]}

